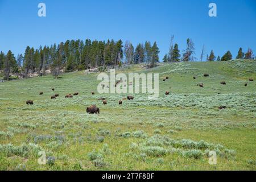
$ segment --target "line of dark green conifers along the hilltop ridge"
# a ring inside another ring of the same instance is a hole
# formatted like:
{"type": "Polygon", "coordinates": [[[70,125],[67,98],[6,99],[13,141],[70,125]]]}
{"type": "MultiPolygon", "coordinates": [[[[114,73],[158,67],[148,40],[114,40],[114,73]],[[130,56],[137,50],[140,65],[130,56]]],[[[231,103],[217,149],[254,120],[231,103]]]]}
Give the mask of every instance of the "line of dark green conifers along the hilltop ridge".
{"type": "MultiPolygon", "coordinates": [[[[173,44],[174,36],[171,37],[169,52],[164,55],[164,62],[195,61],[195,45],[192,39],[187,39],[187,46],[182,51],[177,43],[173,44]]],[[[98,41],[86,39],[67,40],[60,44],[51,46],[40,46],[38,49],[27,46],[24,54],[14,56],[11,51],[7,54],[0,52],[0,70],[3,70],[4,78],[9,80],[10,73],[39,72],[45,75],[47,69],[51,69],[53,76],[57,77],[60,72],[81,71],[84,69],[119,66],[123,63],[138,64],[146,63],[149,67],[154,67],[159,62],[159,48],[154,42],[149,41],[139,43],[136,47],[130,41],[123,45],[122,40],[98,41]]],[[[204,57],[204,46],[200,60],[204,57]]],[[[253,51],[249,48],[245,53],[239,49],[236,59],[253,59],[253,51]]],[[[214,55],[213,50],[207,55],[207,61],[227,61],[232,60],[230,51],[221,58],[214,55]]]]}

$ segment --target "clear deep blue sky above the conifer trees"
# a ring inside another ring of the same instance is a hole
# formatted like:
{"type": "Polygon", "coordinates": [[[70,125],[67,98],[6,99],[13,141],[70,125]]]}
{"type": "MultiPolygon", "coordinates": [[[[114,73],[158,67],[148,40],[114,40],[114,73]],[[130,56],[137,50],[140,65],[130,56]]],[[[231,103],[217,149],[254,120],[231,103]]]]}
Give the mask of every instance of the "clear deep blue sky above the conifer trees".
{"type": "Polygon", "coordinates": [[[17,55],[27,46],[50,46],[67,39],[122,39],[133,44],[156,41],[162,60],[171,35],[179,48],[187,38],[195,43],[196,57],[205,44],[216,56],[250,47],[256,55],[255,0],[0,0],[0,51],[17,55]],[[38,16],[38,3],[47,17],[38,16]],[[210,2],[217,17],[208,16],[210,2]]]}

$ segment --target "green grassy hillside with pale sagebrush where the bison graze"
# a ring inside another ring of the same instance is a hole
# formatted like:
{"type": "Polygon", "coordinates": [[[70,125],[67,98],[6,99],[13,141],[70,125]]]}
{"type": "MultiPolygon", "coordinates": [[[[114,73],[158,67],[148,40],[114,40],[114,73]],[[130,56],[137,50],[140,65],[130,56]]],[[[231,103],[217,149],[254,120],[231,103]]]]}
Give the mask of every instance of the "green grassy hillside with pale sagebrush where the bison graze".
{"type": "Polygon", "coordinates": [[[256,78],[255,61],[131,65],[121,72],[159,73],[159,100],[133,94],[133,101],[118,105],[127,94],[97,94],[98,73],[0,83],[0,169],[256,169],[256,84],[249,81],[256,78]],[[164,76],[170,78],[163,82],[164,76]],[[196,86],[200,82],[204,88],[196,86]],[[79,96],[64,98],[75,92],[79,96]],[[60,97],[51,100],[55,93],[60,97]],[[92,104],[99,115],[86,113],[92,104]],[[208,163],[211,150],[215,166],[208,163]],[[46,151],[46,165],[38,164],[39,151],[46,151]]]}

